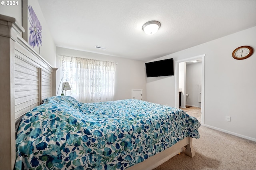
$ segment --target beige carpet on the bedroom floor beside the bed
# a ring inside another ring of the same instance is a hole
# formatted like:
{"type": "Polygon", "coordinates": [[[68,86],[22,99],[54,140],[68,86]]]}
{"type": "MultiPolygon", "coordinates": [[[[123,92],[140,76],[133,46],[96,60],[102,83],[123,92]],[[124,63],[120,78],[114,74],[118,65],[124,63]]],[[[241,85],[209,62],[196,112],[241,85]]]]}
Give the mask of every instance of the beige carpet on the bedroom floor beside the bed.
{"type": "Polygon", "coordinates": [[[203,126],[198,130],[193,158],[182,152],[155,170],[256,170],[256,142],[203,126]]]}

